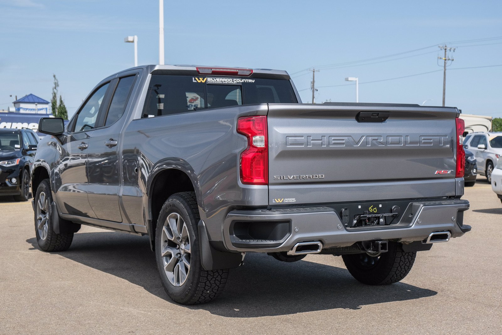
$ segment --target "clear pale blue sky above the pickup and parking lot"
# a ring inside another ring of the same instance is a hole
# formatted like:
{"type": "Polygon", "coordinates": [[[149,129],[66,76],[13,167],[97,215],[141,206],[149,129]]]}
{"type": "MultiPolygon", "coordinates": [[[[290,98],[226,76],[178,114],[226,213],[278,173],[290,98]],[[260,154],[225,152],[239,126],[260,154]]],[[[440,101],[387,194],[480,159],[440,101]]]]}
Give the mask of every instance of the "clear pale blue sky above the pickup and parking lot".
{"type": "MultiPolygon", "coordinates": [[[[165,0],[164,6],[166,64],[284,69],[295,73],[303,102],[311,101],[311,72],[299,71],[316,66],[316,102],[355,101],[355,86],[344,81],[352,76],[359,78],[360,102],[441,105],[437,45],[446,42],[457,47],[446,105],[502,117],[502,66],[453,70],[502,64],[500,1],[165,0]],[[468,42],[491,37],[500,38],[468,42]]],[[[0,109],[15,95],[49,100],[55,73],[73,115],[98,81],[134,65],[133,45],[123,42],[128,35],[138,35],[140,64],[158,63],[157,0],[0,0],[0,14],[0,109]]]]}

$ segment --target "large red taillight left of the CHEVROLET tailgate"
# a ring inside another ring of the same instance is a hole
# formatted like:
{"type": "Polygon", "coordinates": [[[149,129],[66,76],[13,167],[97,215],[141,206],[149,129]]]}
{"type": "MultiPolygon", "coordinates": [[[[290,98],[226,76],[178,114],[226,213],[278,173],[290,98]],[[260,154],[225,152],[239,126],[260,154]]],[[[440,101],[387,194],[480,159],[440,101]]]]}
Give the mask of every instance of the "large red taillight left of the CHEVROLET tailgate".
{"type": "Polygon", "coordinates": [[[244,184],[269,183],[267,117],[245,117],[237,121],[237,132],[247,137],[247,148],[240,154],[240,181],[244,184]]]}

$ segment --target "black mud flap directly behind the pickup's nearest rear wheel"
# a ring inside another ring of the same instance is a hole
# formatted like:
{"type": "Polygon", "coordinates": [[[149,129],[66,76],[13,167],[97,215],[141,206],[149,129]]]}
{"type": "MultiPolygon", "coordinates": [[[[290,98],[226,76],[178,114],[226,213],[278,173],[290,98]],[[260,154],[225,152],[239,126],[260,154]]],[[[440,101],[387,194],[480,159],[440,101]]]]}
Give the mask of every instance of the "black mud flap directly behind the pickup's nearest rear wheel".
{"type": "Polygon", "coordinates": [[[204,221],[200,220],[197,228],[200,240],[200,261],[204,270],[233,269],[240,265],[242,254],[221,252],[209,244],[209,236],[204,221]]]}

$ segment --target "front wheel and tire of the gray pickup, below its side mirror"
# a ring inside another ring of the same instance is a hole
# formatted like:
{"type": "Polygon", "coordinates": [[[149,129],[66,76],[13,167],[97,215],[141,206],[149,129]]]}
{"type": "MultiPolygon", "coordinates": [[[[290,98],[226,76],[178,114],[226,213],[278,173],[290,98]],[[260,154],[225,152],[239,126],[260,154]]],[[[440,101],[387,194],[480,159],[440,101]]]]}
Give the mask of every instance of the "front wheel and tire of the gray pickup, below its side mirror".
{"type": "Polygon", "coordinates": [[[73,233],[56,234],[54,232],[51,203],[52,193],[49,179],[44,179],[38,185],[37,193],[35,193],[35,234],[38,246],[47,252],[65,251],[70,248],[73,233]]]}

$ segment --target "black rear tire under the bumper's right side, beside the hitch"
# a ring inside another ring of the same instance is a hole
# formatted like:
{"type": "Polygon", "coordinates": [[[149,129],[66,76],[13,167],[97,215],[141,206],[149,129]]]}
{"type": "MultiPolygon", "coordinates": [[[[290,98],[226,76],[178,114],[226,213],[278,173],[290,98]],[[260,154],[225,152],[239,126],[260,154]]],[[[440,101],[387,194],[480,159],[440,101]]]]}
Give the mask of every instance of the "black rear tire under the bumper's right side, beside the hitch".
{"type": "Polygon", "coordinates": [[[348,272],[363,284],[389,285],[402,280],[415,262],[416,252],[404,252],[400,243],[389,242],[389,251],[380,257],[367,254],[342,255],[348,272]]]}

